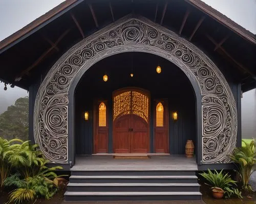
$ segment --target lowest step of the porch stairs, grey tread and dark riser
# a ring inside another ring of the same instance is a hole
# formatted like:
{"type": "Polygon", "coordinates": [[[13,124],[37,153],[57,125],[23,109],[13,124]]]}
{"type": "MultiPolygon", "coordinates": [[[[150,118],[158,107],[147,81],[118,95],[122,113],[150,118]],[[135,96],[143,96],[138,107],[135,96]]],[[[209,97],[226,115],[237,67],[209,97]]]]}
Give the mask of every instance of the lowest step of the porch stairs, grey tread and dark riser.
{"type": "Polygon", "coordinates": [[[86,200],[201,200],[200,192],[69,192],[66,201],[86,200]]]}

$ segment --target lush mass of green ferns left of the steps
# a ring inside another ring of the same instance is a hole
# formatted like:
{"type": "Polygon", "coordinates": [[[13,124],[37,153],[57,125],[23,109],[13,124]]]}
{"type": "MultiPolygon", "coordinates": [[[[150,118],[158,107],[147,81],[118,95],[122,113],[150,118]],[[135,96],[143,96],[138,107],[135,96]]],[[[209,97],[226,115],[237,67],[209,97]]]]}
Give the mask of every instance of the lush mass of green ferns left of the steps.
{"type": "Polygon", "coordinates": [[[38,197],[49,199],[63,182],[63,178],[55,173],[62,167],[48,168],[49,161],[37,147],[30,145],[29,141],[0,138],[1,185],[14,189],[9,203],[30,203],[38,197]],[[10,172],[15,173],[9,176],[10,172]]]}

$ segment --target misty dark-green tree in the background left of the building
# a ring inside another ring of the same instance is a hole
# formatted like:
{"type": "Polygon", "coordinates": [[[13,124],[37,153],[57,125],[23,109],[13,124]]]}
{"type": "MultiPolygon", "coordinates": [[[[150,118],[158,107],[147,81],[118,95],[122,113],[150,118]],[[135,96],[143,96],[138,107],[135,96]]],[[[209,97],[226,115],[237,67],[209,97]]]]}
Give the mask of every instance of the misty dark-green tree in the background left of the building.
{"type": "Polygon", "coordinates": [[[0,137],[7,140],[28,140],[29,98],[19,98],[0,115],[0,137]]]}

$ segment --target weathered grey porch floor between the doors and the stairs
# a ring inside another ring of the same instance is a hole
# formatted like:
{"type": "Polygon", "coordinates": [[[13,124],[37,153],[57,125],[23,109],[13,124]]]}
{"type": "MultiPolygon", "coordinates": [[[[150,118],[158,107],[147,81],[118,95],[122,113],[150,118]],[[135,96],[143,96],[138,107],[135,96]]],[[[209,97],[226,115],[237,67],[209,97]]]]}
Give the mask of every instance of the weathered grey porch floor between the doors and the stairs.
{"type": "Polygon", "coordinates": [[[113,155],[76,156],[71,171],[197,171],[195,157],[151,155],[150,159],[114,159],[113,155]]]}

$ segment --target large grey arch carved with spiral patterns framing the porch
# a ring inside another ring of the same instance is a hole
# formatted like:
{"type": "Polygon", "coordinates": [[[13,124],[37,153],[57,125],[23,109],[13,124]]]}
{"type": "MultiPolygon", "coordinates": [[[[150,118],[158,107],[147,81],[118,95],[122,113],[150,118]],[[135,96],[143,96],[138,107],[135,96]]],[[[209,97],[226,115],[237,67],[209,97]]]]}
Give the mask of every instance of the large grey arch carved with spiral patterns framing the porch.
{"type": "Polygon", "coordinates": [[[125,17],[82,40],[48,72],[35,102],[34,137],[46,157],[68,163],[68,94],[75,76],[105,57],[148,52],[172,61],[202,96],[202,162],[229,162],[236,146],[237,109],[218,67],[197,47],[144,17],[125,17]]]}

